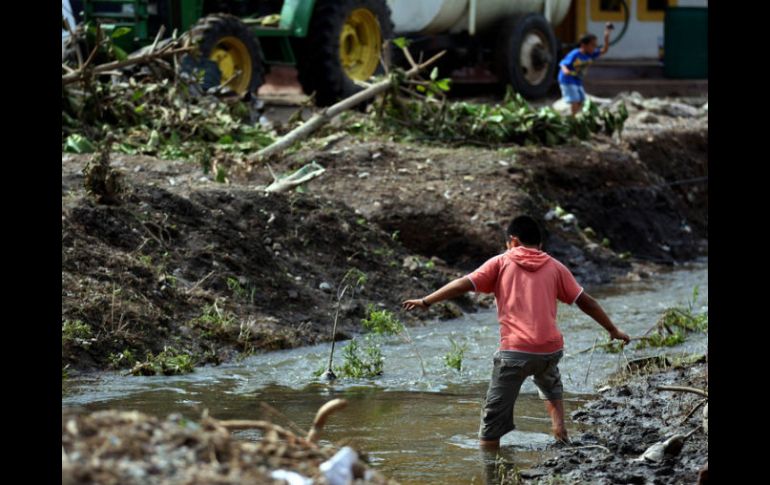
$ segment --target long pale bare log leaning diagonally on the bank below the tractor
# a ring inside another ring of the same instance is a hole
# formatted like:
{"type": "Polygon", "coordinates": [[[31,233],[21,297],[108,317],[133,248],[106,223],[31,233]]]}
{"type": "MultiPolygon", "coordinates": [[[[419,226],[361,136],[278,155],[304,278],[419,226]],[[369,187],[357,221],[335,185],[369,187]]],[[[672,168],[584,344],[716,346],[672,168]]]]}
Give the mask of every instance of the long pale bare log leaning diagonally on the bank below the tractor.
{"type": "MultiPolygon", "coordinates": [[[[428,59],[427,61],[423,62],[422,64],[414,64],[412,62],[411,69],[409,69],[405,73],[406,78],[415,76],[421,70],[425,69],[426,67],[430,66],[431,64],[436,62],[438,59],[440,59],[441,56],[443,56],[445,53],[446,51],[441,51],[435,56],[428,59]]],[[[410,59],[411,56],[409,56],[408,58],[410,59]]],[[[372,84],[371,86],[364,89],[363,91],[357,92],[356,94],[354,94],[353,96],[350,96],[349,98],[343,99],[337,104],[334,104],[332,106],[329,106],[328,108],[322,109],[321,111],[313,115],[309,120],[304,122],[302,125],[300,125],[299,127],[295,128],[294,130],[290,131],[289,133],[281,137],[275,143],[268,145],[265,148],[258,151],[257,154],[254,156],[254,160],[264,160],[265,158],[271,155],[274,155],[276,153],[279,153],[285,150],[286,148],[289,148],[294,143],[307,138],[311,133],[313,133],[318,128],[320,128],[321,126],[329,122],[332,118],[334,118],[338,114],[342,113],[343,111],[349,110],[350,108],[353,108],[354,106],[358,105],[363,101],[366,101],[369,98],[373,98],[374,96],[387,91],[393,85],[394,85],[394,80],[392,78],[386,79],[384,81],[380,81],[376,84],[372,84]]]]}

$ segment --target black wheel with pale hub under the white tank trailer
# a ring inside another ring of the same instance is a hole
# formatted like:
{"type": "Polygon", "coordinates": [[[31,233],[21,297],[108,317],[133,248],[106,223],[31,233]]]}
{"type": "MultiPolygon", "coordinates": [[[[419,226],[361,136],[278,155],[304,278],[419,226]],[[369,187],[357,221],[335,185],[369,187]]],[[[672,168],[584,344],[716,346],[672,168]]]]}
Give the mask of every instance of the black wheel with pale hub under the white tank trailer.
{"type": "Polygon", "coordinates": [[[556,35],[540,14],[516,16],[503,22],[498,34],[500,78],[528,99],[548,94],[559,63],[556,35]]]}

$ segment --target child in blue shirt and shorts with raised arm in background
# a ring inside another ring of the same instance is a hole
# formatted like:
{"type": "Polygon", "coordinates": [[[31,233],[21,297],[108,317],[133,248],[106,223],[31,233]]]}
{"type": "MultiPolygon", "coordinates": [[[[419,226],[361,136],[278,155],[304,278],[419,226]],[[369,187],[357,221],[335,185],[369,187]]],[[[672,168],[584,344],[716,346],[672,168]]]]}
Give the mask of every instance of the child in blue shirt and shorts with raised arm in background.
{"type": "Polygon", "coordinates": [[[606,54],[610,46],[611,23],[604,27],[604,45],[599,48],[594,34],[585,34],[580,38],[578,47],[572,49],[559,63],[559,87],[561,93],[572,108],[573,116],[583,109],[586,92],[583,89],[583,76],[594,59],[606,54]]]}

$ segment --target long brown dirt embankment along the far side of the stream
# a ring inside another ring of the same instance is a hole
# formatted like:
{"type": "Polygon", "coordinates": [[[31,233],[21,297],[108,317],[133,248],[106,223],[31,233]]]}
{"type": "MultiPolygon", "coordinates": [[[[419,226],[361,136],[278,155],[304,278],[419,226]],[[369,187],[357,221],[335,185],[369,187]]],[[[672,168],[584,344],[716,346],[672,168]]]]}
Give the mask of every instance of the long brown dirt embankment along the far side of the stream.
{"type": "MultiPolygon", "coordinates": [[[[89,156],[63,155],[62,322],[80,330],[63,338],[62,365],[125,367],[121,352],[166,346],[216,363],[327,340],[337,285],[357,268],[368,280],[344,301],[345,338],[367,305],[398,311],[499,253],[520,212],[541,218],[545,249],[589,286],[691,259],[707,251],[706,152],[706,129],[502,149],[347,135],[274,162],[327,171],[307,193],[273,195],[256,189],[271,181],[263,167],[233,168],[223,185],[191,162],[114,154],[119,205],[84,193],[89,156]],[[547,220],[557,205],[574,219],[547,220]]],[[[419,317],[479,301],[490,303],[419,317]]]]}

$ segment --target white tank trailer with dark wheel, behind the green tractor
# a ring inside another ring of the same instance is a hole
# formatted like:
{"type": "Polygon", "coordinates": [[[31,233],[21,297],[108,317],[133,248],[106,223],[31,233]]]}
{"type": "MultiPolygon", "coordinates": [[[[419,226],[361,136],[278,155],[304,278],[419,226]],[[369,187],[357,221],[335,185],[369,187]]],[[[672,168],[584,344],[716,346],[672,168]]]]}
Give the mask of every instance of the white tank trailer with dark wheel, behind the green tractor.
{"type": "Polygon", "coordinates": [[[447,49],[441,68],[488,65],[527,98],[548,93],[559,63],[553,28],[571,0],[387,0],[396,36],[412,50],[447,49]]]}

